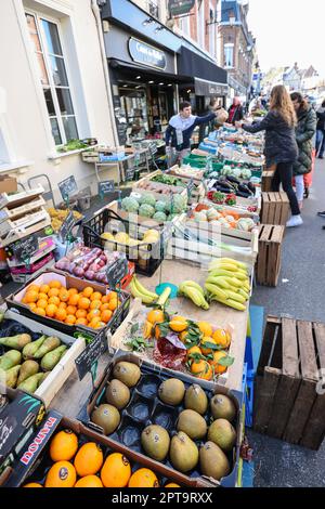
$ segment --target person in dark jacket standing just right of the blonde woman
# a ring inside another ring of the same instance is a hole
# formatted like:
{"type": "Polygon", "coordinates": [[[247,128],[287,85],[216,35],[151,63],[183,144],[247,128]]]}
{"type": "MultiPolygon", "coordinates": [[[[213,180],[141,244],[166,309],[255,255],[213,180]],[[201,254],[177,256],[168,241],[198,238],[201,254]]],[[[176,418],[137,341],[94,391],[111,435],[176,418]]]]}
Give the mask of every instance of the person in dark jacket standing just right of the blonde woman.
{"type": "Polygon", "coordinates": [[[313,107],[303,99],[300,92],[291,93],[291,101],[297,114],[296,141],[299,148],[298,160],[294,164],[294,177],[298,205],[301,210],[303,204],[304,180],[303,175],[312,170],[313,136],[316,132],[316,114],[313,107]]]}

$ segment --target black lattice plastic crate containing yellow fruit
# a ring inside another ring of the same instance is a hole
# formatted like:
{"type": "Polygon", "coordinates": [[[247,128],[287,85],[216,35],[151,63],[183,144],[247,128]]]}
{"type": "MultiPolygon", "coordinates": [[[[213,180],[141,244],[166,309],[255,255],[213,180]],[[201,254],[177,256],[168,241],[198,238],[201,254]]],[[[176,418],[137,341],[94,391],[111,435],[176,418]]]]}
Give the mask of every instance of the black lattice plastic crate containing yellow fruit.
{"type": "Polygon", "coordinates": [[[152,275],[165,258],[166,245],[171,236],[169,227],[156,227],[159,237],[155,243],[141,243],[136,246],[129,246],[101,238],[103,233],[122,232],[135,239],[143,239],[145,232],[151,227],[141,222],[132,222],[121,219],[110,209],[102,209],[93,218],[83,223],[83,240],[88,247],[99,247],[110,251],[125,252],[127,258],[135,264],[135,271],[140,274],[152,275]]]}

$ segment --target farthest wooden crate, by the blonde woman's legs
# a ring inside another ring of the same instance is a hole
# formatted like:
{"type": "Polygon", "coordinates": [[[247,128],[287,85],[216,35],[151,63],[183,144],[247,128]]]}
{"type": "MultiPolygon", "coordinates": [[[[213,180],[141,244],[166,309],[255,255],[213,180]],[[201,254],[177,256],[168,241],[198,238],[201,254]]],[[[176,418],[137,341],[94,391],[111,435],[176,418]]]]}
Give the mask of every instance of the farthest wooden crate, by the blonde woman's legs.
{"type": "Polygon", "coordinates": [[[262,193],[261,224],[285,226],[289,210],[290,205],[286,193],[262,193]]]}

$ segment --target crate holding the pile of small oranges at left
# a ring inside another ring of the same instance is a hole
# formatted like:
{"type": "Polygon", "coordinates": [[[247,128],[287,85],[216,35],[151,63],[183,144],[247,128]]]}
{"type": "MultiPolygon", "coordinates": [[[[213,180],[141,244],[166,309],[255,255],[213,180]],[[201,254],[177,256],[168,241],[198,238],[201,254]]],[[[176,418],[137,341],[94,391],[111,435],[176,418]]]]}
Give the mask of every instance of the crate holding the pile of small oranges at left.
{"type": "Polygon", "coordinates": [[[60,330],[68,336],[74,336],[76,332],[81,332],[81,334],[86,334],[87,336],[93,337],[104,329],[114,331],[116,330],[116,328],[120,325],[120,323],[125,319],[125,317],[128,314],[128,310],[130,306],[130,295],[123,290],[120,291],[119,300],[121,301],[121,304],[114,312],[110,321],[106,324],[106,327],[103,327],[102,329],[92,329],[86,325],[68,325],[64,322],[58,322],[55,318],[50,318],[49,316],[41,316],[41,315],[34,313],[28,306],[28,304],[24,304],[22,302],[28,286],[30,286],[30,284],[35,284],[39,286],[46,285],[53,279],[58,280],[62,284],[62,286],[64,286],[67,289],[77,288],[78,291],[82,291],[86,287],[91,286],[95,291],[99,291],[102,295],[109,293],[108,288],[105,287],[104,285],[100,285],[99,283],[94,283],[94,282],[89,284],[89,282],[84,279],[79,279],[75,276],[72,276],[70,274],[65,274],[65,273],[56,271],[55,269],[52,269],[52,270],[47,270],[47,271],[41,272],[40,275],[30,279],[27,285],[24,285],[23,287],[21,287],[18,291],[10,295],[5,299],[8,308],[15,309],[23,316],[27,316],[30,319],[40,322],[43,325],[49,325],[53,329],[60,330]]]}

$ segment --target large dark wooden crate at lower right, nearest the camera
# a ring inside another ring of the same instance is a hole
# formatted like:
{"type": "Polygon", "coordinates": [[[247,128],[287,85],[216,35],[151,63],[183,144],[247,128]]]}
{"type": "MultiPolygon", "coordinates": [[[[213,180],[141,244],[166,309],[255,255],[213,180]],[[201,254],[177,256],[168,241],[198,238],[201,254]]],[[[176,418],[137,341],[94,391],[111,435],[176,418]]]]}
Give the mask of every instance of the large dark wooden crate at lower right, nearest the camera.
{"type": "Polygon", "coordinates": [[[325,436],[324,369],[325,324],[268,316],[256,377],[255,430],[318,449],[325,436]]]}

